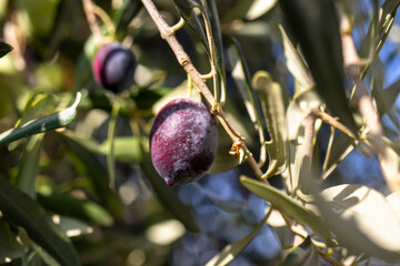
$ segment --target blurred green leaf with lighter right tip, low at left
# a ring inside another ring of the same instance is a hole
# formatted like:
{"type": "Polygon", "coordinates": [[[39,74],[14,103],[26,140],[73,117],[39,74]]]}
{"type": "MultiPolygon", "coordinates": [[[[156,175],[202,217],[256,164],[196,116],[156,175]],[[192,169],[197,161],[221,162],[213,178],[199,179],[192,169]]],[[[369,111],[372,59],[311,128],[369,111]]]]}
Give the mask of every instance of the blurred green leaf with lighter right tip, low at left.
{"type": "Polygon", "coordinates": [[[72,216],[101,226],[110,226],[112,216],[94,202],[78,200],[69,194],[57,192],[37,194],[38,202],[57,214],[72,216]]]}

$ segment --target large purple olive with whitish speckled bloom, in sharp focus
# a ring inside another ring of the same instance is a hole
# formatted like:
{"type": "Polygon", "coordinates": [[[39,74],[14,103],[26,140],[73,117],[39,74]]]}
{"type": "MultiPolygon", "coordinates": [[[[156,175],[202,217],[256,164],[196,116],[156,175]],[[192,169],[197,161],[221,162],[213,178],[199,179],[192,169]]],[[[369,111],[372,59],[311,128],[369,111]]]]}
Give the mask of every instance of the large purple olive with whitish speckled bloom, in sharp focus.
{"type": "Polygon", "coordinates": [[[168,185],[199,180],[210,168],[217,145],[217,122],[199,101],[177,99],[156,115],[150,132],[150,155],[168,185]]]}

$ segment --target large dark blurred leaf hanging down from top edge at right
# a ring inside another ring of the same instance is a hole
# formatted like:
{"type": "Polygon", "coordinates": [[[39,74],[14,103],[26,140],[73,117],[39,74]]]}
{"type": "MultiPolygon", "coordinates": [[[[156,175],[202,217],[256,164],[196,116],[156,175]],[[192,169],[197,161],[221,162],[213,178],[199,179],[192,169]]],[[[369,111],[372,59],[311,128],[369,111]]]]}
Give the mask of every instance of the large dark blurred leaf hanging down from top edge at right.
{"type": "Polygon", "coordinates": [[[337,9],[332,0],[279,0],[284,21],[299,41],[329,110],[353,133],[358,131],[344,91],[343,57],[337,9]]]}

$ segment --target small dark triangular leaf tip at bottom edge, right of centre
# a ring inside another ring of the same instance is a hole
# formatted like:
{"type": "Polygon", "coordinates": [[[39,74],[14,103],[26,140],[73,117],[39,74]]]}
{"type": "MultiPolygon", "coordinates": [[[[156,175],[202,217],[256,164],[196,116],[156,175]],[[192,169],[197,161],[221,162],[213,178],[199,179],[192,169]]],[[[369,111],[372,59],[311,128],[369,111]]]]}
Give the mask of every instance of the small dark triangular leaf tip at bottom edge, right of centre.
{"type": "Polygon", "coordinates": [[[318,266],[319,256],[311,238],[308,236],[303,243],[294,247],[279,266],[318,266]]]}

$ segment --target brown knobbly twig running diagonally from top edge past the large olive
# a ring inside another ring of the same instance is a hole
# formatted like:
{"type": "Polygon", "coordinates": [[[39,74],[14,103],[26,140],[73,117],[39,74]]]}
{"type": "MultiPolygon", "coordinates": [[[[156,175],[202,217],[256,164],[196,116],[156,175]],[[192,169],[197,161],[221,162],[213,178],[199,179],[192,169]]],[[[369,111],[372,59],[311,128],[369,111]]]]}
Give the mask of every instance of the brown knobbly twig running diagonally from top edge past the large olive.
{"type": "MultiPolygon", "coordinates": [[[[190,57],[184,52],[182,45],[177,40],[173,29],[167,24],[167,22],[163,20],[160,12],[157,10],[154,3],[151,0],[141,0],[141,1],[143,3],[144,8],[147,9],[147,11],[149,12],[151,19],[156,23],[157,28],[159,29],[161,38],[168,42],[168,44],[170,45],[172,52],[174,53],[174,55],[179,62],[179,64],[188,73],[188,75],[191,78],[192,82],[199,88],[199,90],[201,91],[202,95],[204,96],[204,99],[207,101],[207,104],[209,105],[210,109],[212,109],[212,111],[213,111],[212,113],[218,117],[218,120],[220,121],[223,129],[227,131],[229,136],[232,139],[233,143],[236,145],[240,146],[241,149],[243,149],[244,152],[251,154],[243,141],[244,139],[228,121],[227,116],[223,114],[223,111],[222,111],[220,104],[219,103],[217,105],[214,104],[216,103],[214,96],[212,95],[210,89],[208,88],[208,85],[206,84],[203,79],[201,78],[201,74],[199,73],[199,71],[196,69],[196,66],[191,62],[190,57]]],[[[248,157],[247,162],[249,163],[249,166],[254,172],[256,176],[261,182],[269,184],[267,180],[261,178],[262,171],[258,166],[254,157],[250,155],[248,157]]]]}

